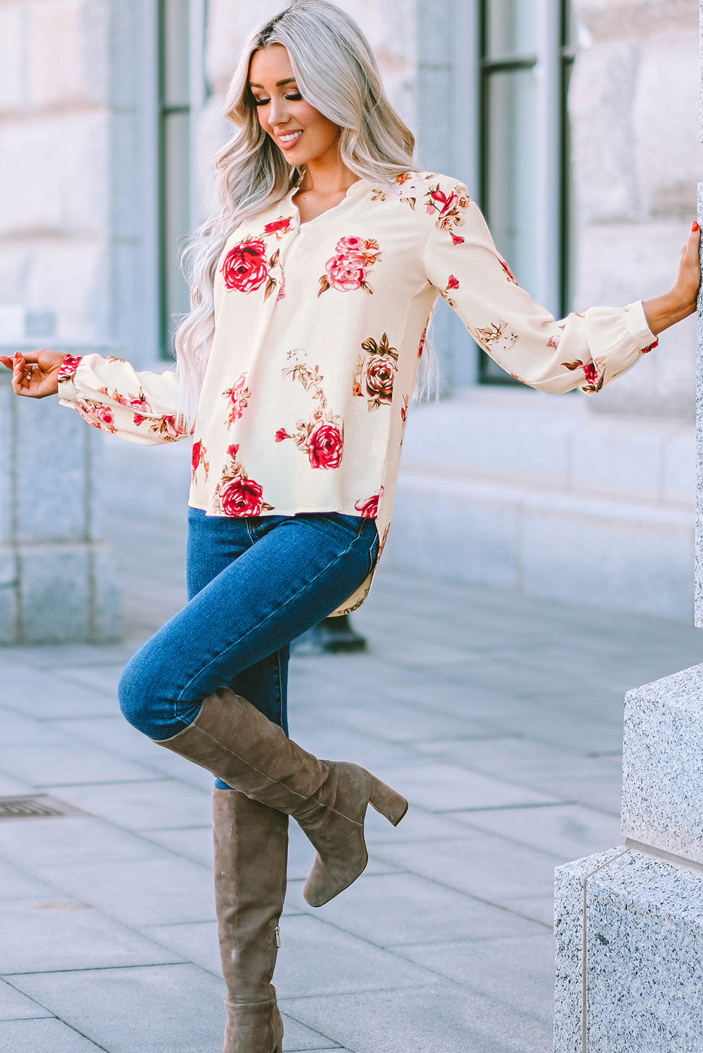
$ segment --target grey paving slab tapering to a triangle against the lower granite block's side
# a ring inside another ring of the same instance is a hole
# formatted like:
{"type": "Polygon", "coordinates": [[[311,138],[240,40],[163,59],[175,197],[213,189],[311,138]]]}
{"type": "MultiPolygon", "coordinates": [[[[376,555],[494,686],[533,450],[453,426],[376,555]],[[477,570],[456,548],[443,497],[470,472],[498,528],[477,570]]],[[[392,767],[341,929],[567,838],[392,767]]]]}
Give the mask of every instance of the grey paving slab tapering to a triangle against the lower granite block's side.
{"type": "Polygon", "coordinates": [[[551,933],[470,943],[417,943],[398,948],[397,953],[552,1025],[555,948],[551,933]]]}

